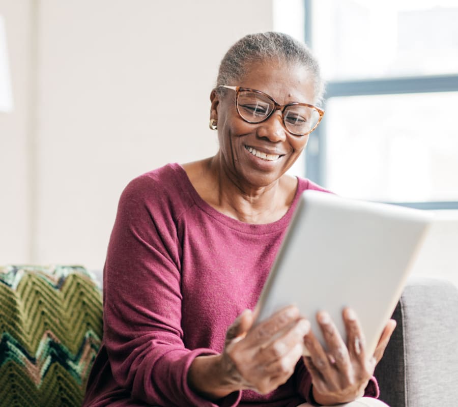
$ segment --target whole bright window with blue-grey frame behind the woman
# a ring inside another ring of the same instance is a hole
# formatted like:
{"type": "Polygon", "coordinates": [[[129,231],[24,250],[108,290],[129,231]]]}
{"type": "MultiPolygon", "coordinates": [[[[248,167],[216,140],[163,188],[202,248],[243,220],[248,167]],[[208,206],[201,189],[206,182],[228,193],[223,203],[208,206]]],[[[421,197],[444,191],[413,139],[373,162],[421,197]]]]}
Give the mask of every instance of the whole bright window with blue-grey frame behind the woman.
{"type": "Polygon", "coordinates": [[[307,177],[346,196],[458,208],[458,4],[304,5],[327,81],[307,177]]]}

